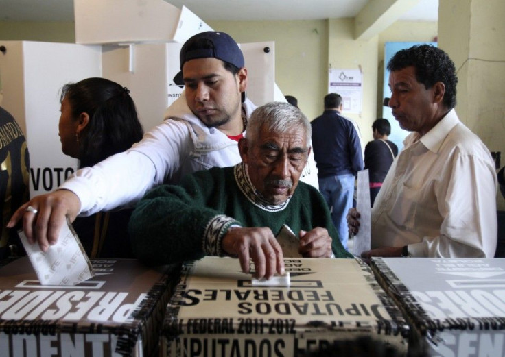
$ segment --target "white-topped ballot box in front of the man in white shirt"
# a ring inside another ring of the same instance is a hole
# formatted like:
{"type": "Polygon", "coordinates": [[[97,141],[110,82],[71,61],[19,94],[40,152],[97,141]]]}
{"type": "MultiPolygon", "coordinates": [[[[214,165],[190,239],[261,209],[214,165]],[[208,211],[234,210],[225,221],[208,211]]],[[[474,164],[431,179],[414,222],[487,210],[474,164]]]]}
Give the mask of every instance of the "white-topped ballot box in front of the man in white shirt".
{"type": "Polygon", "coordinates": [[[505,260],[373,258],[429,356],[505,356],[505,260]]]}

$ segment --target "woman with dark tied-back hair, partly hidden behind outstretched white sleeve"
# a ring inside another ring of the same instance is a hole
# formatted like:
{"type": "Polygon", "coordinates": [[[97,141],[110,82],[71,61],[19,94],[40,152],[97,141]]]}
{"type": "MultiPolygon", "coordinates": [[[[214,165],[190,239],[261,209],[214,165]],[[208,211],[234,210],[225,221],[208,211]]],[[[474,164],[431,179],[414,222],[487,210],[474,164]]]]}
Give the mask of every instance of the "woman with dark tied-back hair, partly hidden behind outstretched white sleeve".
{"type": "MultiPolygon", "coordinates": [[[[93,166],[129,149],[143,130],[130,91],[104,78],[65,84],[61,93],[59,135],[64,154],[78,167],[93,166]]],[[[91,258],[132,258],[128,238],[131,210],[98,212],[73,223],[91,258]]]]}

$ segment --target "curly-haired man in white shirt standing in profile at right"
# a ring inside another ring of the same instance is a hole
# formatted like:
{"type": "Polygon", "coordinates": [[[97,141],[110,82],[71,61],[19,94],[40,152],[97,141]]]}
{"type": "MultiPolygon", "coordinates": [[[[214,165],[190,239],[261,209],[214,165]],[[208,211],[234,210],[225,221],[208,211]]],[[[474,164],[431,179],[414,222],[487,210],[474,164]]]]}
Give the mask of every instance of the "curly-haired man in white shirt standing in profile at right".
{"type": "MultiPolygon", "coordinates": [[[[388,63],[389,106],[412,132],[395,159],[371,218],[372,256],[493,258],[497,243],[495,164],[454,111],[458,79],[447,54],[416,45],[388,63]]],[[[349,232],[359,227],[349,210],[349,232]]]]}

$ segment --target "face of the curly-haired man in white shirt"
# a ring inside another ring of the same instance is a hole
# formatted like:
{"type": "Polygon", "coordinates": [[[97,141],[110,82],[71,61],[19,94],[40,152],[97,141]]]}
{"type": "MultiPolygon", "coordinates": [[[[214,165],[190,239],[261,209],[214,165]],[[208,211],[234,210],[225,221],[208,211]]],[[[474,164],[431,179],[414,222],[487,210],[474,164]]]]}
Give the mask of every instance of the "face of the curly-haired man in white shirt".
{"type": "Polygon", "coordinates": [[[414,66],[408,66],[389,74],[391,99],[388,106],[400,127],[410,132],[426,134],[434,126],[438,108],[434,86],[426,89],[417,82],[414,66]]]}

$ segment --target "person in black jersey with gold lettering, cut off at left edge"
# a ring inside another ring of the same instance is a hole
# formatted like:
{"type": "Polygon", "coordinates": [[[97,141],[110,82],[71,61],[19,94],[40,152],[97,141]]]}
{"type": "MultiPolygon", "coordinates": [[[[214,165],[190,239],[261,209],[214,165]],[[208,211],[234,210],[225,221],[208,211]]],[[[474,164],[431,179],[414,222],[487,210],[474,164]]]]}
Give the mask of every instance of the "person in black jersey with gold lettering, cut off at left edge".
{"type": "Polygon", "coordinates": [[[0,107],[0,266],[24,254],[14,227],[5,225],[16,210],[30,198],[30,154],[21,127],[0,107]]]}

